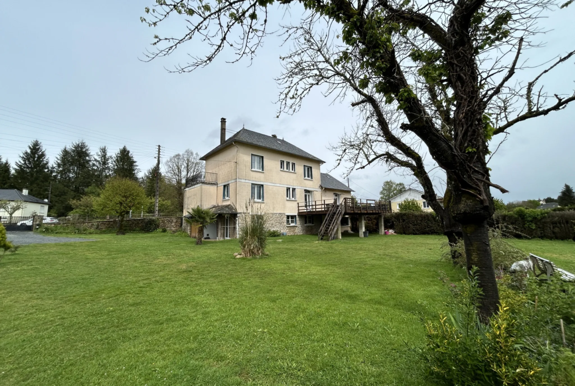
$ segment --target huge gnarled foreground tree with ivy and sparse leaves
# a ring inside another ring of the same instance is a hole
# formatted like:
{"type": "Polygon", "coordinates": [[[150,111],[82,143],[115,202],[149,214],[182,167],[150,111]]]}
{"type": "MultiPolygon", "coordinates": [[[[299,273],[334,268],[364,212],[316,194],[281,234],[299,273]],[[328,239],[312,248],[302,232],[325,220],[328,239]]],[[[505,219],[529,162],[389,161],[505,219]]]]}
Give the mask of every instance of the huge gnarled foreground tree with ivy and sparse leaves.
{"type": "MultiPolygon", "coordinates": [[[[575,93],[535,88],[573,51],[529,81],[517,77],[526,67],[524,51],[538,47],[539,17],[558,3],[298,2],[308,14],[300,24],[284,28],[294,47],[283,58],[285,72],[278,79],[280,113],[297,111],[310,90],[320,85],[329,95],[351,98],[362,120],[357,135],[347,141],[351,151],[343,147],[342,156],[361,159],[360,167],[382,161],[409,170],[431,207],[441,211],[425,169],[428,154],[446,173],[443,219],[461,226],[468,265],[478,267],[483,292],[479,311],[487,320],[499,304],[487,226],[494,212],[490,188],[507,192],[490,179],[489,142],[519,122],[563,109],[575,100],[575,93]]],[[[208,44],[208,54],[192,57],[174,71],[206,66],[224,47],[235,50],[236,60],[252,59],[266,35],[267,7],[272,3],[156,0],[155,7],[146,9],[150,20],[142,21],[156,26],[178,14],[186,18],[187,32],[179,37],[156,36],[157,51],[148,52],[147,59],[170,55],[196,37],[208,44]]]]}

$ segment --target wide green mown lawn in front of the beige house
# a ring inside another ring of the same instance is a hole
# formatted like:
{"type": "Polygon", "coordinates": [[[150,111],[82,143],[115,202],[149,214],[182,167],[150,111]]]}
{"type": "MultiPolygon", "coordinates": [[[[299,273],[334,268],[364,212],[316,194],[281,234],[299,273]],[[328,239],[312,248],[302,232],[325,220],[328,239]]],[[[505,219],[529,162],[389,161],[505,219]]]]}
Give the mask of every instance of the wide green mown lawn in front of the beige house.
{"type": "Polygon", "coordinates": [[[262,259],[233,258],[236,240],[90,238],[0,262],[0,385],[429,384],[419,315],[448,296],[439,270],[461,275],[439,236],[287,236],[262,259]]]}

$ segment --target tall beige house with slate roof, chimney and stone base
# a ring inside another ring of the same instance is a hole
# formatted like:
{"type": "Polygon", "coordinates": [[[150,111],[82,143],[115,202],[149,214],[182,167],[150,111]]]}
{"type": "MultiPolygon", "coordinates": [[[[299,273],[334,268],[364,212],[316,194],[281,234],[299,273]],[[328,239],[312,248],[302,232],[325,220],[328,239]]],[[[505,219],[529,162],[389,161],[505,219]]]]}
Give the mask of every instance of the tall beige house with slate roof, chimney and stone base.
{"type": "MultiPolygon", "coordinates": [[[[198,205],[217,214],[216,223],[204,230],[206,238],[236,238],[241,221],[256,210],[266,213],[269,229],[287,235],[325,230],[331,239],[350,229],[349,216],[355,210],[368,210],[361,202],[352,208],[353,190],[321,173],[323,160],[277,135],[245,128],[226,139],[224,118],[220,144],[200,159],[205,161],[205,172],[186,183],[184,215],[198,205]],[[326,217],[329,226],[322,227],[326,217]]],[[[381,210],[376,207],[374,201],[371,209],[381,210]]]]}

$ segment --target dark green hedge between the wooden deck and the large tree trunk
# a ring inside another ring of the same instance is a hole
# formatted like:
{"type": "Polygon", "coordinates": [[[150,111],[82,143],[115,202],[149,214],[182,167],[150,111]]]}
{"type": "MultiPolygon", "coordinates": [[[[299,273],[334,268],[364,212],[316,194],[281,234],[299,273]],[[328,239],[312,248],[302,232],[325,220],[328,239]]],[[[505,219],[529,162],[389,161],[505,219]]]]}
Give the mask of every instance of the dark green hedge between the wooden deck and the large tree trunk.
{"type": "MultiPolygon", "coordinates": [[[[386,213],[385,229],[393,229],[400,235],[441,235],[443,227],[433,212],[386,213]]],[[[366,216],[366,231],[379,232],[379,216],[366,216]]]]}

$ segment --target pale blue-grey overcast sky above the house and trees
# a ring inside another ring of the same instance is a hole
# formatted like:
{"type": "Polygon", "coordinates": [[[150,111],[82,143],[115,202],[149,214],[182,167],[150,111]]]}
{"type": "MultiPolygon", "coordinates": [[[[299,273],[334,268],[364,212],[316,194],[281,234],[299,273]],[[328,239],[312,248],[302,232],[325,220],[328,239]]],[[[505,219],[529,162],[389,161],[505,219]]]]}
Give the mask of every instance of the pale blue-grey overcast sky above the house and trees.
{"type": "MultiPolygon", "coordinates": [[[[318,90],[300,112],[276,118],[274,78],[281,72],[279,55],[288,49],[280,47],[279,37],[266,39],[251,66],[248,62],[227,64],[220,58],[191,74],[169,74],[164,67],[185,63],[185,53],[198,48],[188,44],[168,58],[141,62],[139,58],[155,33],[177,34],[183,26],[183,19],[156,30],[141,24],[139,17],[150,5],[152,0],[31,0],[3,6],[3,159],[13,164],[30,140],[39,139],[52,161],[65,144],[83,139],[93,152],[103,145],[115,152],[125,144],[135,153],[140,169],[146,170],[155,163],[156,144],[164,147],[163,156],[186,148],[208,152],[218,144],[220,118],[225,117],[230,131],[245,125],[277,134],[327,161],[322,171],[333,168],[336,157],[328,145],[353,127],[355,117],[349,105],[332,104],[318,90]]],[[[294,9],[291,17],[295,20],[300,14],[294,9]]],[[[275,10],[270,23],[277,25],[282,16],[275,10]]],[[[575,6],[549,16],[542,20],[544,28],[552,29],[542,37],[546,47],[528,53],[532,65],[575,48],[575,6]]],[[[570,60],[544,78],[551,93],[569,93],[575,88],[573,64],[570,60]]],[[[513,127],[490,163],[492,181],[510,193],[494,192],[494,196],[505,201],[556,197],[563,184],[574,186],[574,118],[572,105],[513,127]]],[[[340,167],[332,174],[340,177],[343,172],[340,167]]],[[[386,179],[405,184],[413,181],[389,174],[382,165],[350,176],[351,187],[364,198],[377,198],[386,179]]]]}

